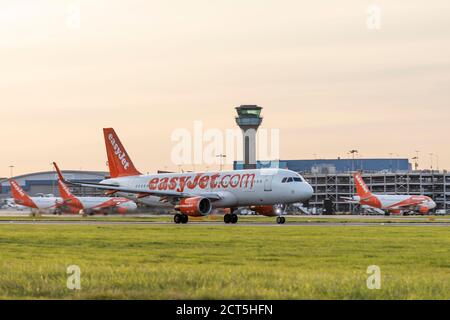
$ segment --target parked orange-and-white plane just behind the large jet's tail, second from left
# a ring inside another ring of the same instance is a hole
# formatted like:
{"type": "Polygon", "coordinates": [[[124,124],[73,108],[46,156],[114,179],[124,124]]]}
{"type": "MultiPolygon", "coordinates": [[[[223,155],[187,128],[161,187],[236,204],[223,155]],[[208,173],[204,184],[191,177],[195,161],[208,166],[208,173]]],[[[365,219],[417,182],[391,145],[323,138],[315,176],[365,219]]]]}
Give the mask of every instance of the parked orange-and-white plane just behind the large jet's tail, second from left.
{"type": "Polygon", "coordinates": [[[58,165],[55,162],[53,162],[53,165],[58,174],[58,189],[62,197],[60,206],[68,208],[72,213],[79,213],[83,216],[94,215],[96,212],[103,214],[118,212],[124,214],[137,209],[136,203],[126,198],[77,197],[73,195],[67,185],[63,182],[64,177],[59,170],[58,165]]]}

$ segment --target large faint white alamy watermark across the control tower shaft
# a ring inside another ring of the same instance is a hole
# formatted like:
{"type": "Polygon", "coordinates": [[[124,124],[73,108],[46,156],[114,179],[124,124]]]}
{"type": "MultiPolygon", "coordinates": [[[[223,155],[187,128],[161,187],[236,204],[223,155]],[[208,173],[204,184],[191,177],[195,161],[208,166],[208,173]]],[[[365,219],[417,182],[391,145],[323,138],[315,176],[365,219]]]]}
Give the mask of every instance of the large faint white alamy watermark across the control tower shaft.
{"type": "Polygon", "coordinates": [[[248,163],[280,158],[279,129],[250,129],[244,135],[237,128],[205,129],[202,121],[194,121],[191,130],[179,128],[172,132],[171,161],[177,166],[231,165],[234,160],[243,160],[244,140],[248,163]]]}

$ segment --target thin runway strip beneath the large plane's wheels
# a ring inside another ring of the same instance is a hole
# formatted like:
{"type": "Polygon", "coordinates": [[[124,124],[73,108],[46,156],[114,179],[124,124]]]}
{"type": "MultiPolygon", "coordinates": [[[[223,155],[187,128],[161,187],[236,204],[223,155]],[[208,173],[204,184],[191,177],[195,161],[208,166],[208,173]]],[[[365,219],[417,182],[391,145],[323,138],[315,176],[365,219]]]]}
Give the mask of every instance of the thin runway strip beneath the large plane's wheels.
{"type": "MultiPolygon", "coordinates": [[[[18,221],[18,220],[3,220],[0,221],[0,225],[109,225],[109,226],[136,226],[136,225],[148,225],[148,226],[177,226],[173,222],[151,222],[151,221],[18,221]]],[[[201,227],[450,227],[448,222],[434,222],[434,223],[420,223],[420,222],[391,222],[391,223],[369,223],[369,222],[350,222],[350,223],[336,223],[336,222],[289,222],[279,225],[276,223],[237,223],[237,224],[225,224],[223,222],[190,222],[188,224],[178,225],[180,227],[189,228],[189,226],[201,226],[201,227]]]]}

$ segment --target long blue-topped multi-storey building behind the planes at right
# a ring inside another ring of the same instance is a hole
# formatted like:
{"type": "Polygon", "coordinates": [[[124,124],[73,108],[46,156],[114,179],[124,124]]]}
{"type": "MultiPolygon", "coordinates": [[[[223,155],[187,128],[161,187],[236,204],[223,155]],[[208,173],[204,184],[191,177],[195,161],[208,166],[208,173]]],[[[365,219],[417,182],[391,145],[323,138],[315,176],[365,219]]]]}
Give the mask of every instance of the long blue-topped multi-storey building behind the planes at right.
{"type": "MultiPolygon", "coordinates": [[[[242,169],[242,162],[234,169],[242,169]]],[[[331,200],[334,212],[359,213],[357,204],[342,197],[356,194],[353,172],[361,171],[374,193],[426,195],[437,204],[436,210],[450,212],[450,174],[439,170],[413,170],[408,159],[318,159],[258,161],[257,168],[282,168],[301,174],[314,188],[309,207],[323,208],[331,200]]]]}

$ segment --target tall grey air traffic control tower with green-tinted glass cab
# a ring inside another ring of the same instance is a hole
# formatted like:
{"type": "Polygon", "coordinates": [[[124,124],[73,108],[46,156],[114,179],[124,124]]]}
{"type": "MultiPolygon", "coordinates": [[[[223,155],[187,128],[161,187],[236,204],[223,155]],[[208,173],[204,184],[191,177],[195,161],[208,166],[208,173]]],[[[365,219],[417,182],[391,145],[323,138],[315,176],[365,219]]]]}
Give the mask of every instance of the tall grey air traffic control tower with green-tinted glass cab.
{"type": "Polygon", "coordinates": [[[244,145],[244,169],[256,169],[256,132],[262,123],[262,108],[243,105],[236,108],[236,123],[241,128],[244,145]]]}

